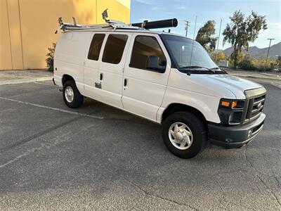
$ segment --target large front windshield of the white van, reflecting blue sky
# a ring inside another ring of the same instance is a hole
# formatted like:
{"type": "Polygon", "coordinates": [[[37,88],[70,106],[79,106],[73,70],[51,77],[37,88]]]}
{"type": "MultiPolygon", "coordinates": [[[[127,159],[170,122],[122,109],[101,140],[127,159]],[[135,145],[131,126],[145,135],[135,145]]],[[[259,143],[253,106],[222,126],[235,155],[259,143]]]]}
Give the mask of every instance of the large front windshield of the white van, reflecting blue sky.
{"type": "Polygon", "coordinates": [[[197,41],[169,34],[161,34],[161,37],[181,72],[199,70],[206,73],[223,73],[197,41]]]}

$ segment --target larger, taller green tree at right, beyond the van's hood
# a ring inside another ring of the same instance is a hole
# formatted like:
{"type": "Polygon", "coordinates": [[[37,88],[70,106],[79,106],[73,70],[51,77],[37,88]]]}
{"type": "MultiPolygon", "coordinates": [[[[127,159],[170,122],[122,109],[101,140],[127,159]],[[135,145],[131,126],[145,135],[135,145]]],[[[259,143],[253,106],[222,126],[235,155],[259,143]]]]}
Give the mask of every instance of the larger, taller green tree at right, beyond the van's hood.
{"type": "Polygon", "coordinates": [[[230,43],[233,47],[233,65],[237,66],[237,56],[244,48],[248,50],[249,42],[253,42],[258,38],[261,29],[266,30],[266,16],[261,16],[251,11],[251,15],[245,18],[244,14],[240,11],[235,11],[233,16],[230,17],[232,23],[226,25],[223,31],[223,44],[230,43]]]}

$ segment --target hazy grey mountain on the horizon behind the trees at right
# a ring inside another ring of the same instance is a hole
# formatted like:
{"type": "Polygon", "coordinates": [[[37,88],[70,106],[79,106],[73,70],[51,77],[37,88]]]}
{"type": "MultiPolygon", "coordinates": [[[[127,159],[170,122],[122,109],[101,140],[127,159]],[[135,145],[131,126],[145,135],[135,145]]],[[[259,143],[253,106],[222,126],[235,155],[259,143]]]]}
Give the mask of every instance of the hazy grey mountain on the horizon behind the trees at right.
{"type": "MultiPolygon", "coordinates": [[[[268,48],[259,49],[258,47],[253,46],[249,47],[248,52],[245,49],[242,49],[242,52],[249,53],[251,57],[260,58],[267,55],[268,48]]],[[[230,54],[233,53],[233,48],[228,48],[224,50],[223,53],[226,54],[226,56],[230,56],[230,54]]],[[[276,55],[281,56],[281,41],[275,45],[270,46],[268,57],[276,58],[276,55]]]]}

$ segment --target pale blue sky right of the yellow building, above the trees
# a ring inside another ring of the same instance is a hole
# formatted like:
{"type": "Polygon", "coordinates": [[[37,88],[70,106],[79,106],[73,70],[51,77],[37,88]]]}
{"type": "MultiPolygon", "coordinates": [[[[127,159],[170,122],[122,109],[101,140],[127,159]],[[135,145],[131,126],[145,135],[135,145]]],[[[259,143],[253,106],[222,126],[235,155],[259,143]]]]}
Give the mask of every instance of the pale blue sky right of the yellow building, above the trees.
{"type": "Polygon", "coordinates": [[[171,32],[185,35],[184,20],[189,20],[191,23],[188,27],[188,37],[193,38],[194,32],[196,37],[197,31],[208,20],[216,22],[215,36],[218,37],[222,20],[218,49],[226,49],[230,44],[223,45],[222,32],[227,23],[230,23],[229,17],[237,10],[242,11],[246,16],[251,11],[266,15],[268,29],[261,30],[258,39],[249,46],[266,48],[269,44],[268,38],[275,39],[271,45],[281,41],[281,0],[131,0],[131,23],[177,18],[178,26],[171,28],[171,32]]]}

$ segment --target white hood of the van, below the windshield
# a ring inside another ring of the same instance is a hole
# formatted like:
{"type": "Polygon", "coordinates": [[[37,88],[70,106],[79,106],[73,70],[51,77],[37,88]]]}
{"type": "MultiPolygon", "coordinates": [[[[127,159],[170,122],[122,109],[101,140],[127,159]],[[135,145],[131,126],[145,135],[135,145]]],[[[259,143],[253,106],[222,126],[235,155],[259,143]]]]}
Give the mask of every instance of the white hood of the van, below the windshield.
{"type": "Polygon", "coordinates": [[[247,79],[235,77],[233,75],[206,75],[209,81],[214,81],[219,87],[224,87],[233,92],[237,98],[245,98],[244,91],[263,87],[261,84],[251,82],[247,79]]]}

